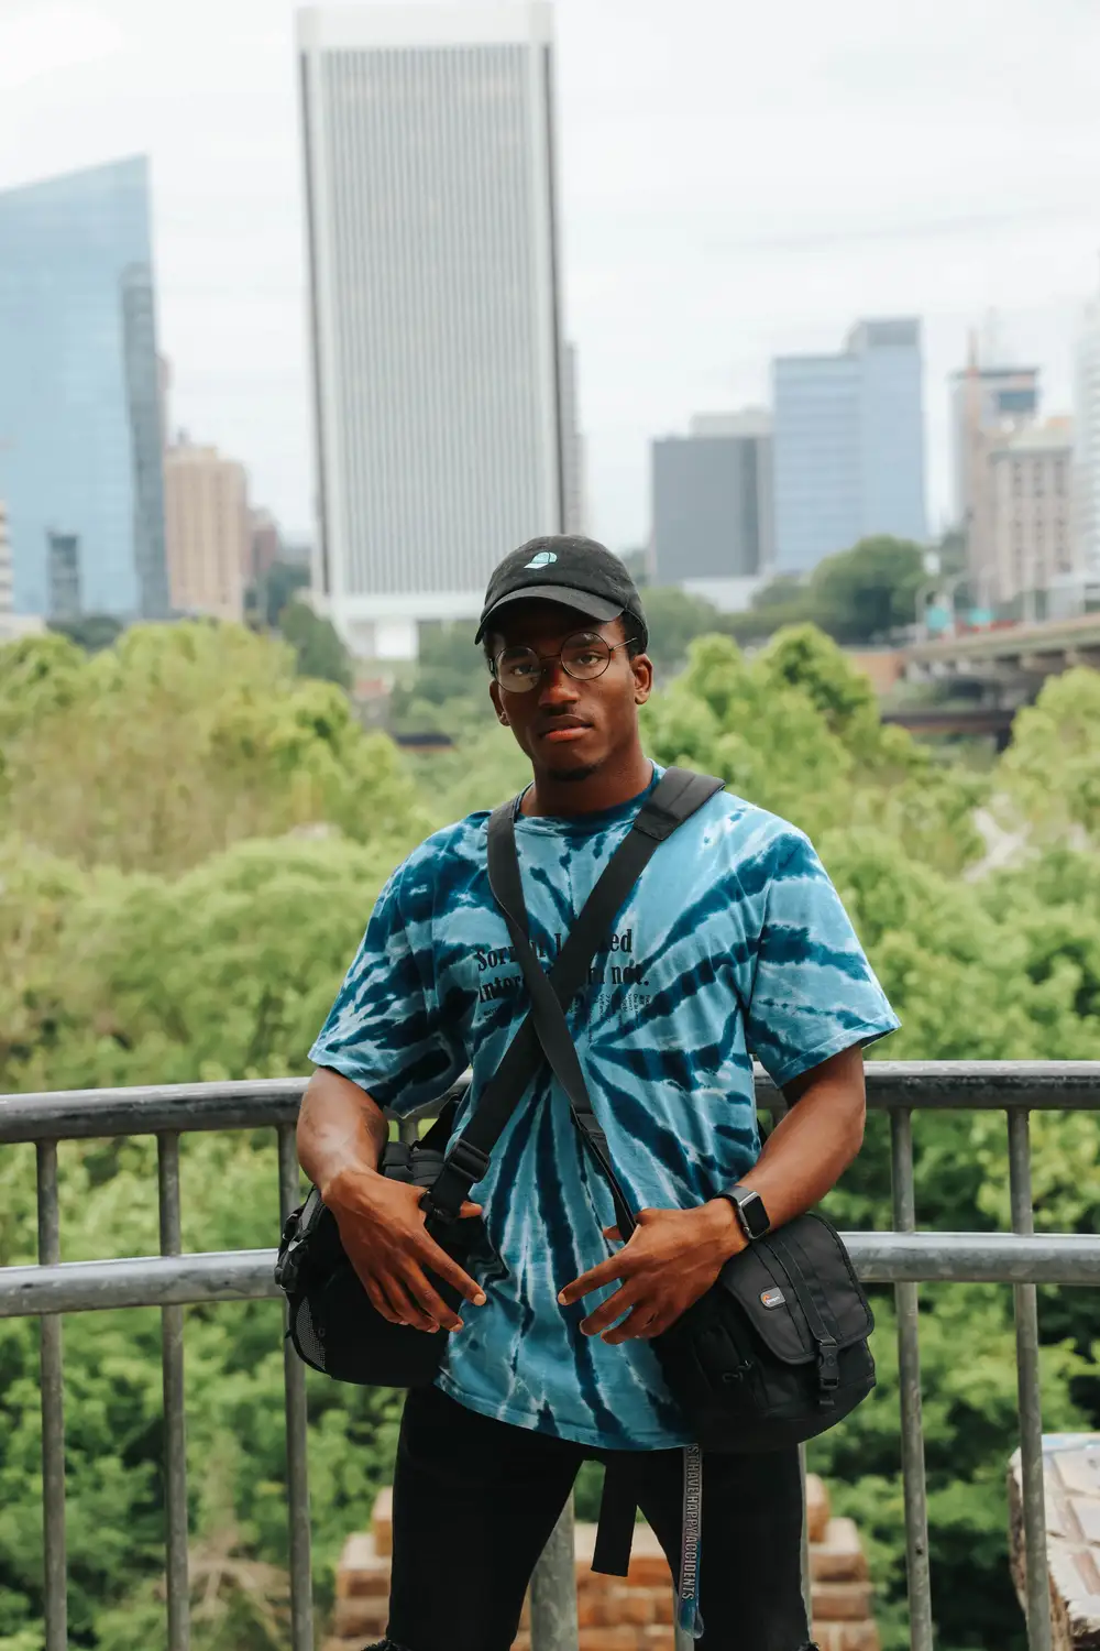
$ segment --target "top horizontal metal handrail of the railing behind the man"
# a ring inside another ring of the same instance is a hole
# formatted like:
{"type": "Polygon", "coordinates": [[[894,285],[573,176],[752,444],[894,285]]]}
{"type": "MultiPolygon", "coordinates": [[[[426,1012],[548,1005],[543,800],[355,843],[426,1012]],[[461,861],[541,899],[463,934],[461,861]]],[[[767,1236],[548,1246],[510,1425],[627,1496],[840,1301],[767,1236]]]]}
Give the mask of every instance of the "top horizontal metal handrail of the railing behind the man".
{"type": "MultiPolygon", "coordinates": [[[[305,1083],[305,1078],[270,1078],[0,1095],[0,1144],[290,1124],[305,1083]]],[[[760,1068],[755,1085],[759,1106],[785,1106],[760,1068]]],[[[872,1060],[867,1105],[879,1111],[1100,1111],[1100,1062],[872,1060]]],[[[419,1116],[437,1109],[439,1103],[419,1116]]]]}

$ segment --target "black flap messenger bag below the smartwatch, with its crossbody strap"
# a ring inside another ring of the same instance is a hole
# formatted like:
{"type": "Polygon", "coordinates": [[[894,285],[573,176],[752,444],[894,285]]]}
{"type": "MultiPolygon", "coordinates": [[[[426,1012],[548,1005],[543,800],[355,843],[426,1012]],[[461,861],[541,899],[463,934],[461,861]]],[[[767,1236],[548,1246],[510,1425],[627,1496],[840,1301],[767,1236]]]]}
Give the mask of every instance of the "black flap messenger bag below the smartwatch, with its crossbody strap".
{"type": "MultiPolygon", "coordinates": [[[[572,1121],[612,1194],[623,1242],[637,1227],[607,1151],[552,974],[528,939],[513,821],[490,821],[493,896],[531,994],[538,1037],[572,1121]]],[[[732,1256],[651,1346],[673,1398],[707,1451],[772,1451],[825,1433],[874,1387],[874,1317],[839,1233],[798,1215],[732,1256]]]]}

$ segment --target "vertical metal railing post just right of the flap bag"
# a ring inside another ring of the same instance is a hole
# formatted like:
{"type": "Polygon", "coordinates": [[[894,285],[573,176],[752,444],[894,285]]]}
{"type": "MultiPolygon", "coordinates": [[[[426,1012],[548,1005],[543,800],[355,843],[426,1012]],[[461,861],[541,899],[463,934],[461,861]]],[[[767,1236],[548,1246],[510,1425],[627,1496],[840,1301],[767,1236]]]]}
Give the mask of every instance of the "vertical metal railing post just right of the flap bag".
{"type": "MultiPolygon", "coordinates": [[[[912,1111],[891,1113],[891,1184],[894,1230],[917,1230],[912,1111]]],[[[902,1412],[902,1494],[905,1501],[905,1572],[909,1577],[909,1644],[932,1651],[932,1577],[928,1572],[928,1493],[924,1469],[920,1405],[920,1308],[915,1284],[894,1284],[897,1308],[897,1385],[902,1412]]]]}

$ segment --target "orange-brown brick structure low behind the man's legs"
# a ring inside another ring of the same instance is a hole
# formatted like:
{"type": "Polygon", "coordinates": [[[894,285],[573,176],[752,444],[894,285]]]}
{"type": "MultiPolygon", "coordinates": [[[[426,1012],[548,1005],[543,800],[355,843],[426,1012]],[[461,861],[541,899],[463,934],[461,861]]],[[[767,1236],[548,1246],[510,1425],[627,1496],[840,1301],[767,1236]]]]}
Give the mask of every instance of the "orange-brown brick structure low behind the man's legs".
{"type": "MultiPolygon", "coordinates": [[[[348,1537],[336,1572],[333,1636],[325,1651],[361,1651],[381,1639],[389,1595],[393,1552],[393,1493],[381,1491],[369,1532],[348,1537]]],[[[813,1577],[813,1636],[821,1651],[879,1651],[871,1616],[867,1560],[851,1519],[830,1516],[828,1494],[810,1474],[810,1572],[813,1577]]],[[[581,1651],[675,1651],[673,1578],[648,1526],[638,1526],[628,1577],[592,1570],[595,1526],[577,1526],[577,1623],[581,1651]]],[[[531,1651],[524,1608],[515,1651],[531,1651]]]]}

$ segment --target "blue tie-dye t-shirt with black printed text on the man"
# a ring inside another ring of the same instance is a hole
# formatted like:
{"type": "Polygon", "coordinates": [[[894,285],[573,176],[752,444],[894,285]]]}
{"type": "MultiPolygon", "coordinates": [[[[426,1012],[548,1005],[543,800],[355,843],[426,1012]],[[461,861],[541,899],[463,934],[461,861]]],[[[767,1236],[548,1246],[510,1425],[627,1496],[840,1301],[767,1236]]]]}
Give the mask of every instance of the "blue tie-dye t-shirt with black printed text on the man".
{"type": "MultiPolygon", "coordinates": [[[[640,802],[569,821],[518,817],[531,939],[544,958],[640,802]]],[[[399,1116],[470,1065],[458,1128],[528,1007],[490,895],[487,821],[472,814],[435,832],[394,872],[310,1050],[399,1116]]],[[[808,839],[727,792],[658,847],[569,1022],[637,1209],[704,1204],[755,1162],[754,1053],[783,1085],[899,1024],[808,839]]],[[[444,1392],[584,1445],[688,1443],[648,1342],[609,1347],[581,1334],[602,1294],[557,1304],[564,1284],[607,1256],[613,1210],[549,1073],[529,1086],[472,1197],[506,1276],[488,1273],[487,1304],[465,1309],[444,1392]]]]}

